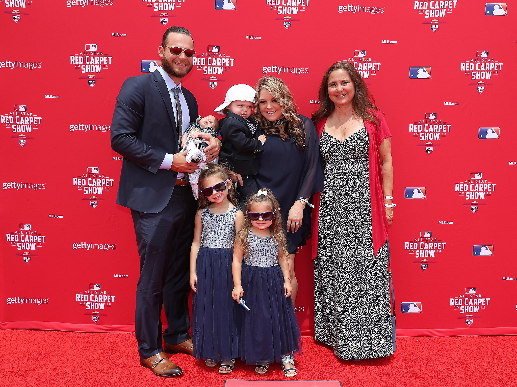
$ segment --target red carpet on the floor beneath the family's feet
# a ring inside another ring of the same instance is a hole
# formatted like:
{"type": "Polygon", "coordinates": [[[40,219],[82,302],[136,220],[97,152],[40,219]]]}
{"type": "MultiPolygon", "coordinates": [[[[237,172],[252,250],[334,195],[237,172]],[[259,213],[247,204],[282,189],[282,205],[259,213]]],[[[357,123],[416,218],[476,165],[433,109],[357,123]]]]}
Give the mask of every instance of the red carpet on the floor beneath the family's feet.
{"type": "MultiPolygon", "coordinates": [[[[305,354],[297,358],[294,380],[340,380],[354,387],[517,386],[517,336],[399,337],[393,356],[360,362],[338,360],[325,345],[302,340],[305,354]]],[[[225,379],[287,380],[278,364],[259,378],[237,361],[224,376],[186,354],[171,355],[183,375],[160,378],[139,365],[134,334],[128,333],[4,330],[0,343],[2,387],[223,387],[225,379]]]]}

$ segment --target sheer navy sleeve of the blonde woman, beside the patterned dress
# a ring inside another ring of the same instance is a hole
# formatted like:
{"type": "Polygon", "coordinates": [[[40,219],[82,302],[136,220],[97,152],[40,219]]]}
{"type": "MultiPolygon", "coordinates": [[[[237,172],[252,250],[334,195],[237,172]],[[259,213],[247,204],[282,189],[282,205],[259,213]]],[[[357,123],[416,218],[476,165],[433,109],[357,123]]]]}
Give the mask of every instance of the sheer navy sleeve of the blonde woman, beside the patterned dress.
{"type": "Polygon", "coordinates": [[[310,119],[300,116],[305,132],[305,164],[298,198],[309,198],[313,193],[323,190],[323,160],[320,155],[320,136],[310,119]]]}

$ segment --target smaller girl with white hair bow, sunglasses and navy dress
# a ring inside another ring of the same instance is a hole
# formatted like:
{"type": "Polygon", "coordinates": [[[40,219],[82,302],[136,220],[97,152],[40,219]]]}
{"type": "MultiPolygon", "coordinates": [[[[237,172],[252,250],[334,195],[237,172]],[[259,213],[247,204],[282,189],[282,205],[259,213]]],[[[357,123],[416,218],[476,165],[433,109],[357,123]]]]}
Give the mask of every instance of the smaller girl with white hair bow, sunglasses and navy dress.
{"type": "Polygon", "coordinates": [[[301,337],[291,301],[280,204],[268,188],[261,188],[246,205],[232,268],[232,297],[238,303],[242,297],[249,309],[237,307],[240,358],[254,365],[257,374],[265,374],[272,362],[281,363],[284,375],[291,378],[297,373],[294,353],[301,353],[301,337]]]}

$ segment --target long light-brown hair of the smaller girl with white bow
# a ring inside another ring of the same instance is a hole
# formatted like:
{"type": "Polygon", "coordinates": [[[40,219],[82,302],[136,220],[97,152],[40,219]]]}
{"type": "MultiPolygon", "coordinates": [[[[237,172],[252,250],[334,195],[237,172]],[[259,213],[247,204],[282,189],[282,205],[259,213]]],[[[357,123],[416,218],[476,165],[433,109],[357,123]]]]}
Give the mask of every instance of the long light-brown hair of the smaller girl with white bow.
{"type": "MultiPolygon", "coordinates": [[[[282,229],[283,221],[280,203],[278,203],[277,198],[273,196],[269,188],[263,187],[260,190],[267,191],[267,195],[257,196],[257,194],[254,193],[246,200],[246,209],[247,211],[250,211],[250,208],[253,206],[253,204],[266,203],[271,207],[271,211],[275,211],[275,218],[273,219],[273,222],[271,223],[269,230],[271,231],[271,234],[277,240],[280,246],[280,249],[278,251],[279,259],[289,259],[289,253],[287,252],[287,242],[285,239],[284,230],[282,229]]],[[[248,219],[247,216],[245,216],[245,223],[242,226],[242,228],[237,232],[237,235],[235,237],[234,247],[244,251],[245,253],[250,251],[246,239],[248,238],[248,233],[250,232],[251,226],[251,221],[248,219]]]]}

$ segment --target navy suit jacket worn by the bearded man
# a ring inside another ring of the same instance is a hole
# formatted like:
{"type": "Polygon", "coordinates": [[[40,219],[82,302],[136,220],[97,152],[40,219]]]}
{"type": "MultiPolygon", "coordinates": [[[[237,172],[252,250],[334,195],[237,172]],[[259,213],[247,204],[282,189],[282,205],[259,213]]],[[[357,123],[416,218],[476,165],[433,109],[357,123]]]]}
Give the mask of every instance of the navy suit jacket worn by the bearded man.
{"type": "MultiPolygon", "coordinates": [[[[190,121],[195,121],[197,101],[186,88],[181,90],[190,121]]],[[[111,147],[124,157],[117,204],[151,214],[165,208],[178,173],[159,168],[165,153],[178,152],[177,133],[171,96],[161,74],[155,71],[126,79],[111,124],[111,147]]]]}

